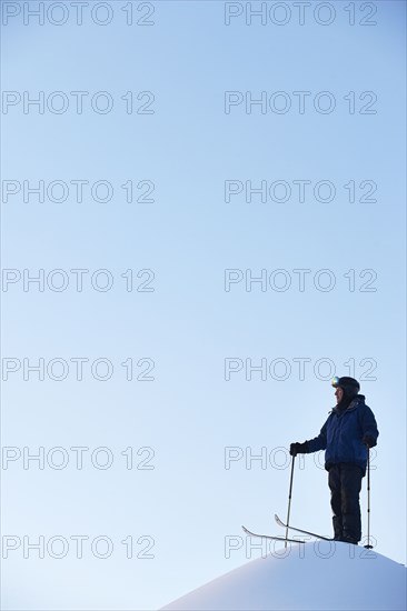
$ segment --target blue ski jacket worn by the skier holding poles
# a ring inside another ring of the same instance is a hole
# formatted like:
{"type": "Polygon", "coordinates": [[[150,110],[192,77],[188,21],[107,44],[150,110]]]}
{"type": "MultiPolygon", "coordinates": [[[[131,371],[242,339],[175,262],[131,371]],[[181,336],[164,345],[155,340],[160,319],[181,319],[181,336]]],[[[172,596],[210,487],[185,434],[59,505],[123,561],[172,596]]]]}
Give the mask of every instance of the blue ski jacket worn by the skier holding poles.
{"type": "Polygon", "coordinates": [[[366,434],[376,441],[379,431],[373,411],[365,403],[364,394],[358,394],[346,410],[334,408],[319,435],[306,443],[308,452],[325,450],[327,471],[332,464],[354,462],[365,473],[368,451],[361,440],[366,434]]]}

